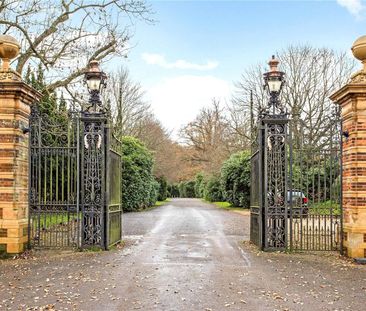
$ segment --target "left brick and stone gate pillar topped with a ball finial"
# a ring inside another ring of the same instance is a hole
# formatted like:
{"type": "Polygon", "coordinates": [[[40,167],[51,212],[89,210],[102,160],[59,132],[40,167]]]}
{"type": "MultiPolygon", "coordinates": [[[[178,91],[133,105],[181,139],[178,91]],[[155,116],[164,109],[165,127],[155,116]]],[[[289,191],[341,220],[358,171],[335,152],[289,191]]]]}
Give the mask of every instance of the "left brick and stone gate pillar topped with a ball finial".
{"type": "Polygon", "coordinates": [[[28,241],[28,117],[40,94],[9,69],[19,51],[0,36],[0,253],[20,253],[28,241]]]}

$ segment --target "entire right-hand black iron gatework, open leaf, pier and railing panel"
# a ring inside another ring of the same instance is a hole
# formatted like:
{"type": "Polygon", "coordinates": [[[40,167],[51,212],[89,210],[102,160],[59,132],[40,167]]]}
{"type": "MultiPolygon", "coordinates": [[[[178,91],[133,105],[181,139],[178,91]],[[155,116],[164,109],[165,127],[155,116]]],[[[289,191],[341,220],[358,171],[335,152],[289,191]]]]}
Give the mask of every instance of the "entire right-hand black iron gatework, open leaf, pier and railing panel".
{"type": "Polygon", "coordinates": [[[342,251],[341,130],[316,144],[299,118],[259,120],[251,159],[251,241],[264,250],[342,251]]]}

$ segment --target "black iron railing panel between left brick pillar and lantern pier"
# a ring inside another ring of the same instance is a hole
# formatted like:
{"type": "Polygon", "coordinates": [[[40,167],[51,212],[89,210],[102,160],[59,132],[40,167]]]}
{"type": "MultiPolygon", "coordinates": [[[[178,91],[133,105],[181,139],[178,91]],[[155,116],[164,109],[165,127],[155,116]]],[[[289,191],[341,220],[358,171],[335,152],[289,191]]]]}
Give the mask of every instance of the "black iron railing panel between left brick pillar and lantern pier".
{"type": "Polygon", "coordinates": [[[29,244],[79,246],[79,118],[30,116],[29,244]]]}

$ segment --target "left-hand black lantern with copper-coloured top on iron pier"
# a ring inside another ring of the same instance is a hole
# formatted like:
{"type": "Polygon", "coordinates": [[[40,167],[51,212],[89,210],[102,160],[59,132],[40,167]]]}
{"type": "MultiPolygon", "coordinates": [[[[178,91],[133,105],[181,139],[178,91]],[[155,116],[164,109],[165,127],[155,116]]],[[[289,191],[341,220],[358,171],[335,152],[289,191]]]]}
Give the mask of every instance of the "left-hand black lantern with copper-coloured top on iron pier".
{"type": "Polygon", "coordinates": [[[102,107],[100,93],[107,86],[107,75],[100,70],[97,60],[89,63],[89,70],[85,73],[84,81],[90,94],[89,109],[93,107],[94,112],[97,112],[97,107],[102,107]]]}

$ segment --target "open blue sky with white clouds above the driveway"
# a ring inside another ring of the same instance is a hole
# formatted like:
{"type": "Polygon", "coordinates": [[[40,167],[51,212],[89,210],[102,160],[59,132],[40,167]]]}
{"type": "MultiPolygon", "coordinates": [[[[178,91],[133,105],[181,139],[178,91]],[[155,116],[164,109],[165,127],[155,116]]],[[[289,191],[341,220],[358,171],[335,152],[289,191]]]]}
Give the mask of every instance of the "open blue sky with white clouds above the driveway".
{"type": "Polygon", "coordinates": [[[157,22],[136,24],[123,64],[175,133],[212,97],[228,100],[245,68],[276,51],[301,43],[349,50],[366,35],[360,0],[149,2],[157,22]]]}

